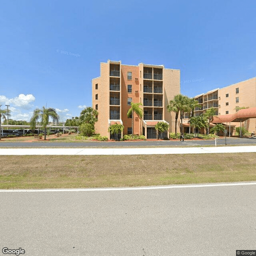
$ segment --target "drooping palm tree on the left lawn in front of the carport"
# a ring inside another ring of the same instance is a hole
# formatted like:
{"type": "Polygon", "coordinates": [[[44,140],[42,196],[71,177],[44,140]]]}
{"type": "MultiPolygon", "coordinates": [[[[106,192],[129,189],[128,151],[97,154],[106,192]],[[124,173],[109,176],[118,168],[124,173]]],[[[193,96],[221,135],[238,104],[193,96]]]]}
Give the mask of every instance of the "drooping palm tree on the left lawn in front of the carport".
{"type": "Polygon", "coordinates": [[[32,118],[30,118],[30,127],[32,130],[36,128],[36,121],[41,119],[41,125],[44,128],[44,140],[46,140],[46,126],[49,123],[49,117],[52,118],[53,122],[58,122],[60,119],[54,108],[45,108],[43,106],[42,109],[36,108],[33,112],[32,118]]]}

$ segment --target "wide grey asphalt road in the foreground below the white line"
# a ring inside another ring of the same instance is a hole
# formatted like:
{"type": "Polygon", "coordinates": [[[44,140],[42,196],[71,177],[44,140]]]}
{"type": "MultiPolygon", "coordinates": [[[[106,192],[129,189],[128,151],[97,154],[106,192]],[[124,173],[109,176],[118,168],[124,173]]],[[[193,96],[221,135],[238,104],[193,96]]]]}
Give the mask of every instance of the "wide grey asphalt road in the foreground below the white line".
{"type": "Polygon", "coordinates": [[[0,192],[0,246],[25,256],[234,256],[256,249],[255,197],[256,185],[0,192]]]}

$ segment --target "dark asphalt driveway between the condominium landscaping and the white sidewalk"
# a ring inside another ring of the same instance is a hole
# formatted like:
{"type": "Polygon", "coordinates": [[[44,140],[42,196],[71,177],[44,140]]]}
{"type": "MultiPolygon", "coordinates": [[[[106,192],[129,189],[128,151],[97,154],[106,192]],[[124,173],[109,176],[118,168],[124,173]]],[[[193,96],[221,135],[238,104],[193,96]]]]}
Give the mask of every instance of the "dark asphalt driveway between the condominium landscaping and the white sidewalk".
{"type": "MultiPolygon", "coordinates": [[[[254,138],[227,138],[227,145],[234,144],[256,144],[256,139],[254,138]]],[[[159,140],[159,141],[139,141],[139,142],[5,142],[0,141],[0,147],[129,147],[129,146],[215,146],[214,140],[185,140],[180,142],[179,140],[159,140]]],[[[225,145],[225,139],[218,139],[217,145],[225,145]]]]}

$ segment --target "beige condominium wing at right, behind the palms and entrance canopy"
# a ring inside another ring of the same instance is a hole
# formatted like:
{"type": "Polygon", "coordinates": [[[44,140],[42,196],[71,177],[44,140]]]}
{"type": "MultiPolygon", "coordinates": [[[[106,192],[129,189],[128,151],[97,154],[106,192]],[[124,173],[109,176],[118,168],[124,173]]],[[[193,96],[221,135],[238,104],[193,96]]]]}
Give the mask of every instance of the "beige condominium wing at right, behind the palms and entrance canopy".
{"type": "MultiPolygon", "coordinates": [[[[217,88],[209,92],[194,97],[198,100],[201,108],[195,108],[195,116],[206,112],[208,108],[215,108],[216,115],[234,114],[239,110],[238,107],[256,107],[256,77],[232,84],[224,88],[217,88]]],[[[188,119],[186,113],[184,118],[188,119]]],[[[240,123],[234,122],[232,125],[240,126],[240,123]]],[[[243,123],[243,126],[249,132],[256,131],[256,118],[250,118],[243,123]]],[[[187,131],[185,127],[185,132],[187,131]]],[[[235,130],[234,130],[235,132],[235,130]]]]}

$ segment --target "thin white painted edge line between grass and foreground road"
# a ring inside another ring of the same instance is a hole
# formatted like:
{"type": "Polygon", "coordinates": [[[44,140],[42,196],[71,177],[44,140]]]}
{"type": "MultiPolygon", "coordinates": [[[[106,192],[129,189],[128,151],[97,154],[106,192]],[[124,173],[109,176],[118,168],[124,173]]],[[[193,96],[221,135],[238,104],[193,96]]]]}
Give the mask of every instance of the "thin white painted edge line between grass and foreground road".
{"type": "Polygon", "coordinates": [[[247,186],[256,185],[256,182],[246,183],[221,183],[221,184],[205,184],[205,185],[178,185],[178,186],[157,186],[157,187],[138,187],[138,188],[61,188],[61,189],[16,189],[16,190],[0,190],[0,192],[79,192],[79,191],[119,191],[119,190],[151,190],[166,188],[205,188],[205,187],[221,187],[221,186],[247,186]]]}

